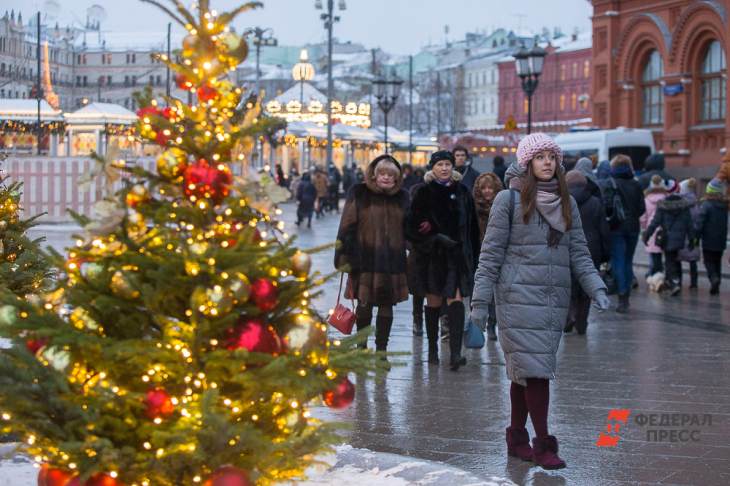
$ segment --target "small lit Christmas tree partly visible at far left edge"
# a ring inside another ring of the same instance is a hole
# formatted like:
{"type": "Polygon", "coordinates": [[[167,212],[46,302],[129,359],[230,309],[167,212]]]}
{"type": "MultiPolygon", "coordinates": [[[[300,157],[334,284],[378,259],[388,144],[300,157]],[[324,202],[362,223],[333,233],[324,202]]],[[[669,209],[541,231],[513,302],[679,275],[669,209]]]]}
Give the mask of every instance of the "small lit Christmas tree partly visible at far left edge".
{"type": "Polygon", "coordinates": [[[44,290],[52,273],[39,248],[43,239],[27,236],[38,216],[20,217],[22,184],[8,179],[0,173],[0,288],[23,297],[44,290]]]}

